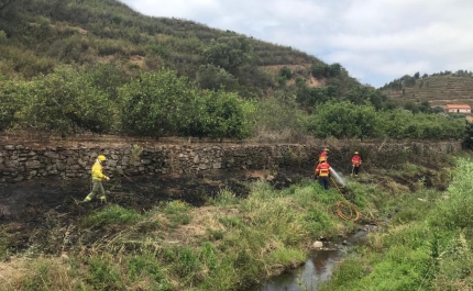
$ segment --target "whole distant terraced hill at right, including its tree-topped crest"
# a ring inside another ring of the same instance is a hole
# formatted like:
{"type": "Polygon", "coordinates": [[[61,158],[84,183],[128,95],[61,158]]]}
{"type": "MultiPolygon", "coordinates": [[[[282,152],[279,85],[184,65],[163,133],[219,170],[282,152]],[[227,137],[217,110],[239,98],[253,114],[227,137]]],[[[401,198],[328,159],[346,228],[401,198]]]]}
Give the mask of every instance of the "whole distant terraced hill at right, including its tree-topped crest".
{"type": "Polygon", "coordinates": [[[397,104],[420,104],[431,107],[446,104],[469,104],[473,107],[473,74],[458,70],[443,71],[422,77],[419,72],[406,75],[381,88],[397,104]]]}

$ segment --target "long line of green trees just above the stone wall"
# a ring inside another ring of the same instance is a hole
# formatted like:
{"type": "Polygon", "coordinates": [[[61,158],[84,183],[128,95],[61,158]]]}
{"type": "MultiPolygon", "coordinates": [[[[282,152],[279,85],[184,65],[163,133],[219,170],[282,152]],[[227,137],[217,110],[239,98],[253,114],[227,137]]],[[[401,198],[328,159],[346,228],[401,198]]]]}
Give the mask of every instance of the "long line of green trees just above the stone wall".
{"type": "MultiPolygon", "coordinates": [[[[461,138],[465,121],[383,105],[378,90],[355,87],[341,99],[318,88],[312,111],[288,90],[244,99],[223,88],[201,88],[163,68],[124,79],[110,64],[63,66],[32,79],[0,79],[0,130],[92,132],[151,137],[243,139],[261,128],[292,130],[315,137],[461,138]]],[[[309,97],[311,94],[309,93],[309,97]]]]}

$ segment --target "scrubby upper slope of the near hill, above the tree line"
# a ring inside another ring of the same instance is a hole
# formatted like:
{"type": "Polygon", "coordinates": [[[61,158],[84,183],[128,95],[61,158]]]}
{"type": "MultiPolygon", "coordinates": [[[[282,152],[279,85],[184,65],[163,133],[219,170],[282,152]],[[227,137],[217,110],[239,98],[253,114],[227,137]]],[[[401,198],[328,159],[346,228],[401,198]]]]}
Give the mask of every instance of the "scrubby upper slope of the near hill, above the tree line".
{"type": "MultiPolygon", "coordinates": [[[[10,0],[0,2],[0,74],[6,77],[32,78],[64,64],[112,64],[127,80],[166,67],[204,89],[238,82],[240,94],[251,97],[278,87],[285,66],[295,68],[287,85],[298,77],[309,87],[319,83],[309,81],[311,67],[328,66],[288,46],[194,21],[146,16],[116,0],[10,0]],[[276,71],[267,69],[274,66],[276,71]],[[226,81],[215,85],[209,79],[226,81]]],[[[341,72],[343,83],[358,85],[341,72]]],[[[333,79],[326,75],[321,85],[326,77],[333,79]]]]}

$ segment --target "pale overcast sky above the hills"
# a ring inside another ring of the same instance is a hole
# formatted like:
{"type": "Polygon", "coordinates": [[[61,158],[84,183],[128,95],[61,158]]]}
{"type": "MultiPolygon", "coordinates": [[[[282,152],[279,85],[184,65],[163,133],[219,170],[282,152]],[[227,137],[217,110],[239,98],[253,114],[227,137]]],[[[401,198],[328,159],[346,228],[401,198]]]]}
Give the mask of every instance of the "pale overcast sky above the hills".
{"type": "Polygon", "coordinates": [[[381,87],[406,74],[473,70],[473,0],[121,0],[287,45],[381,87]]]}

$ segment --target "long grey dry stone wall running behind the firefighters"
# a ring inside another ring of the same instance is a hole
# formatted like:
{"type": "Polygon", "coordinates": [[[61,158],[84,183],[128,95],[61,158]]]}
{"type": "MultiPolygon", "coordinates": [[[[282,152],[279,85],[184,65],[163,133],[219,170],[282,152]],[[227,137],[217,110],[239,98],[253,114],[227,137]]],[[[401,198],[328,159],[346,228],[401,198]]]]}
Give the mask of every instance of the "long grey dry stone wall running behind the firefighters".
{"type": "MultiPolygon", "coordinates": [[[[112,177],[312,167],[320,150],[327,145],[156,144],[143,146],[138,159],[132,158],[133,146],[102,144],[98,147],[62,145],[31,147],[20,143],[0,145],[0,182],[20,182],[41,177],[61,179],[88,177],[98,155],[107,156],[105,170],[112,177]]],[[[329,161],[332,167],[340,168],[350,164],[353,150],[361,152],[364,165],[383,167],[386,164],[461,149],[459,142],[355,143],[330,148],[329,161]]]]}

